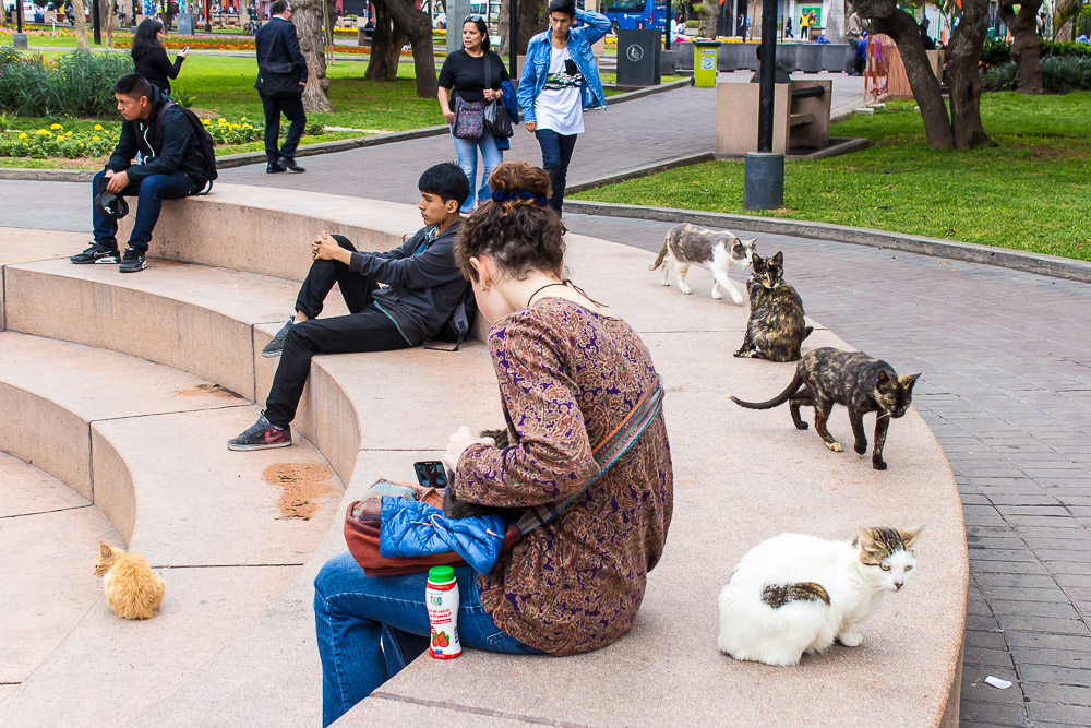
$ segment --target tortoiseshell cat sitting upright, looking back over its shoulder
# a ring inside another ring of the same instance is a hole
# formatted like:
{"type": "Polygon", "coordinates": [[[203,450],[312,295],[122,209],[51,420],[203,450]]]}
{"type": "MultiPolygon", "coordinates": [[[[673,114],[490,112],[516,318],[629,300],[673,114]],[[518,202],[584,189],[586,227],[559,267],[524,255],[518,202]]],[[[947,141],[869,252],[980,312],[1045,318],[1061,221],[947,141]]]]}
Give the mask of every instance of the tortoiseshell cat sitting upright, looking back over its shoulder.
{"type": "Polygon", "coordinates": [[[800,358],[800,345],[814,327],[803,318],[800,295],[784,281],[784,254],[778,252],[766,260],[754,253],[752,264],[754,270],[746,281],[751,318],[735,356],[795,361],[800,358]]]}

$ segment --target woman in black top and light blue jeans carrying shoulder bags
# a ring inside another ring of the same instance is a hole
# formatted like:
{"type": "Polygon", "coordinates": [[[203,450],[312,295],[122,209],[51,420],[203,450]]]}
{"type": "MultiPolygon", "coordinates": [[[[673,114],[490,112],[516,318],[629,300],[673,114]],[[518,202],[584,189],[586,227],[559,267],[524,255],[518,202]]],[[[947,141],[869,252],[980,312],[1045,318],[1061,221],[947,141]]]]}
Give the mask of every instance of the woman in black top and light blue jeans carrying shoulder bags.
{"type": "MultiPolygon", "coordinates": [[[[447,56],[440,69],[440,110],[448,124],[454,124],[455,110],[452,104],[487,104],[503,97],[501,84],[507,81],[504,60],[491,50],[489,27],[480,15],[467,15],[463,23],[463,47],[447,56]],[[452,89],[454,93],[452,94],[452,89]]],[[[470,196],[463,206],[469,213],[489,199],[489,175],[504,160],[504,153],[496,146],[497,140],[489,132],[477,139],[459,139],[452,127],[451,138],[455,140],[458,166],[470,182],[470,196]],[[477,188],[477,160],[481,153],[481,187],[477,188]]]]}

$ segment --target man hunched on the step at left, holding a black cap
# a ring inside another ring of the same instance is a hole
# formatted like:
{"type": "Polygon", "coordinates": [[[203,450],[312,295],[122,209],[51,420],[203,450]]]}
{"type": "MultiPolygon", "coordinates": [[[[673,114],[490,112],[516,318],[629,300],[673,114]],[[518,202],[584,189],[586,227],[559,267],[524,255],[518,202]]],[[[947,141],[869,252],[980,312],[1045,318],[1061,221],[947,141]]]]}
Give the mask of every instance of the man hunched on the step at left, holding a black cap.
{"type": "Polygon", "coordinates": [[[118,79],[113,95],[124,121],[106,169],[95,175],[92,186],[95,241],[69,260],[115,265],[120,262],[121,273],[136,273],[147,267],[144,258],[163,201],[199,192],[208,183],[209,175],[197,131],[180,106],[171,104],[137,73],[118,79]],[[124,258],[118,254],[118,220],[99,204],[104,188],[111,196],[139,200],[124,258]]]}

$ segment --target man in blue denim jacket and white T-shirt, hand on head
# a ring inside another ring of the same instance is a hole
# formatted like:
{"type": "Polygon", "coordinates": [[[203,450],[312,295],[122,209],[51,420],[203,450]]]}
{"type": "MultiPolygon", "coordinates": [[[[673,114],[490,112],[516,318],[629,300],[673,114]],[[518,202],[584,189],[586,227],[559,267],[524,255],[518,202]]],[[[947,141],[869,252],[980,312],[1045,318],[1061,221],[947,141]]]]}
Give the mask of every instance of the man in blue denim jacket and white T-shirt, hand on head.
{"type": "Polygon", "coordinates": [[[542,148],[542,167],[553,188],[550,207],[560,215],[568,162],[576,135],[584,131],[584,109],[607,105],[591,44],[610,31],[610,20],[577,10],[575,0],[551,0],[549,23],[549,31],[527,44],[516,96],[527,131],[542,148]],[[577,19],[583,25],[574,28],[577,19]]]}

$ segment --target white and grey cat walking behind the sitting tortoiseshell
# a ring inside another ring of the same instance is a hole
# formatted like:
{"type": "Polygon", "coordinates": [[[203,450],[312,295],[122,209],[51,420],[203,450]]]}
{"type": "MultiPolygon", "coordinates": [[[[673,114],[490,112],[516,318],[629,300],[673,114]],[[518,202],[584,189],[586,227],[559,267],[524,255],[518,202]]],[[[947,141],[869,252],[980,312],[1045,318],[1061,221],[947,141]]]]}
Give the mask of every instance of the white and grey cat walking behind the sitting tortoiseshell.
{"type": "Polygon", "coordinates": [[[727,230],[710,230],[707,227],[683,223],[667,231],[663,247],[659,249],[656,262],[648,270],[655,271],[661,264],[663,266],[663,285],[669,286],[671,285],[670,271],[673,267],[674,281],[678,283],[679,290],[688,296],[693,289],[685,285],[685,274],[691,265],[704,265],[712,272],[715,279],[712,298],[717,300],[723,298],[720,291],[726,290],[732,302],[742,306],[743,295],[728,278],[728,270],[736,265],[740,267],[750,265],[751,255],[756,250],[757,238],[743,240],[727,230]]]}

